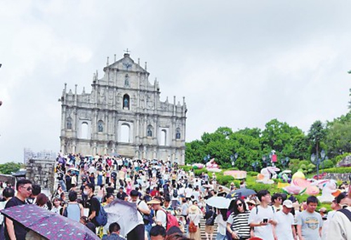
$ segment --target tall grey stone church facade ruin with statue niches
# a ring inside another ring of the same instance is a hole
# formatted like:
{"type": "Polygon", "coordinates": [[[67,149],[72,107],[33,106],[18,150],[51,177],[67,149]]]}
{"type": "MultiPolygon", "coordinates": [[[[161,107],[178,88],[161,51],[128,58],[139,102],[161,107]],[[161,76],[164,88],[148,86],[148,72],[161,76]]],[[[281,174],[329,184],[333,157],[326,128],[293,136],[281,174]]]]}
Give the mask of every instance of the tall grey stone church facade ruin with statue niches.
{"type": "Polygon", "coordinates": [[[93,75],[91,93],[85,89],[60,98],[62,154],[120,154],[133,159],[185,162],[187,106],[161,102],[159,82],[150,84],[147,64],[140,67],[128,53],[93,75]]]}

